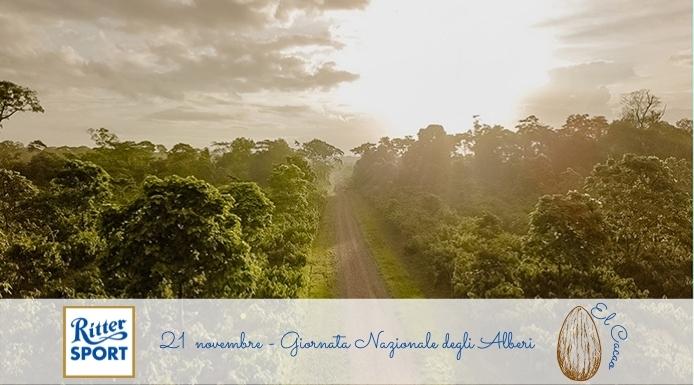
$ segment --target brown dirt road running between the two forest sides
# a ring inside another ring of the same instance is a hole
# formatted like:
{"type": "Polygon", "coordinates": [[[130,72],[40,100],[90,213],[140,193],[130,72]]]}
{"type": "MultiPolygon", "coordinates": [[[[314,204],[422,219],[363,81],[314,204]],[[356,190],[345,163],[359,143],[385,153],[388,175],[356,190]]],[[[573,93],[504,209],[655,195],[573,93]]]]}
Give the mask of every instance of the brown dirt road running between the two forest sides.
{"type": "Polygon", "coordinates": [[[338,191],[335,199],[335,240],[339,297],[388,298],[385,283],[344,191],[338,191]]]}

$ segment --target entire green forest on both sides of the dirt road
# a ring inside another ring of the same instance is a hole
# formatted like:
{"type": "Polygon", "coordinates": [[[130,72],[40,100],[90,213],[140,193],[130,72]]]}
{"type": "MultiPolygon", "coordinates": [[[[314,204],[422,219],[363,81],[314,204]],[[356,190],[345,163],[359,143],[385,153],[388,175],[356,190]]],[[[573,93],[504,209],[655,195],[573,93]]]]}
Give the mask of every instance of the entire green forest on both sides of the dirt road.
{"type": "MultiPolygon", "coordinates": [[[[43,112],[0,83],[0,120],[43,112]]],[[[447,297],[691,297],[692,121],[648,90],[619,119],[476,119],[381,138],[349,188],[447,297]]],[[[344,153],[318,139],[170,149],[0,142],[0,298],[292,298],[344,153]]]]}

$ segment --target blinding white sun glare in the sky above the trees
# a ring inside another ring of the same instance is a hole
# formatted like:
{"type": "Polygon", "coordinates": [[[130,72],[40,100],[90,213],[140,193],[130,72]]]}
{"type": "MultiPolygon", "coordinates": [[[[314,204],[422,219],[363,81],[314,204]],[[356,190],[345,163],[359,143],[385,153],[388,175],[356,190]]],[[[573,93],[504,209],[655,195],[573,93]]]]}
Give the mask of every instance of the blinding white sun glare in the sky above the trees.
{"type": "Polygon", "coordinates": [[[448,131],[472,116],[513,124],[521,99],[556,64],[552,37],[534,25],[545,2],[374,2],[334,29],[338,63],[360,74],[337,98],[384,122],[389,134],[429,123],[448,131]]]}

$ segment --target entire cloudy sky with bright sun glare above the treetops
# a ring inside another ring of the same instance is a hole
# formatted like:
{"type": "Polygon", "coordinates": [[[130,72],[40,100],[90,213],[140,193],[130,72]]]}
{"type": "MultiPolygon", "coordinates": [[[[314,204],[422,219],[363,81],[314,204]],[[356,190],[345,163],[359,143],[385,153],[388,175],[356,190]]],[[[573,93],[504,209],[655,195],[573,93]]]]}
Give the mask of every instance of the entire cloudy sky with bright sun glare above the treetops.
{"type": "Polygon", "coordinates": [[[513,129],[619,114],[647,88],[692,112],[689,0],[0,0],[0,80],[46,112],[0,140],[208,146],[513,129]]]}

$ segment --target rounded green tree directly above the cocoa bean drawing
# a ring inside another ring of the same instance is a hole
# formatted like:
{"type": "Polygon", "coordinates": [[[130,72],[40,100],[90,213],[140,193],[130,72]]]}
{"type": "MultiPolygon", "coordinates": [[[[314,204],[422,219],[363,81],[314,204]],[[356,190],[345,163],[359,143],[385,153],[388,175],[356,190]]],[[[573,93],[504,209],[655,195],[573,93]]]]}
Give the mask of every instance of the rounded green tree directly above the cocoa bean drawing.
{"type": "Polygon", "coordinates": [[[540,198],[530,214],[522,279],[526,296],[631,298],[633,279],[615,272],[600,203],[575,191],[540,198]]]}

